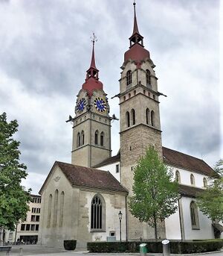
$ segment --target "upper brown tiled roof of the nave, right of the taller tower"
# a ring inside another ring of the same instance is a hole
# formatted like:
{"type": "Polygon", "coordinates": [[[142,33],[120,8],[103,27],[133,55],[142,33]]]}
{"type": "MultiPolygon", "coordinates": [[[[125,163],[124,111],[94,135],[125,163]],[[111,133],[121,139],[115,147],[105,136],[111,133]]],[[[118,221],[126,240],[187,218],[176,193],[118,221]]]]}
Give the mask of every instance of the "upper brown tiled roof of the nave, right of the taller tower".
{"type": "Polygon", "coordinates": [[[216,172],[199,158],[189,154],[184,154],[173,149],[167,149],[163,146],[164,163],[171,166],[177,166],[182,169],[189,169],[193,172],[198,172],[204,175],[216,175],[216,172]]]}

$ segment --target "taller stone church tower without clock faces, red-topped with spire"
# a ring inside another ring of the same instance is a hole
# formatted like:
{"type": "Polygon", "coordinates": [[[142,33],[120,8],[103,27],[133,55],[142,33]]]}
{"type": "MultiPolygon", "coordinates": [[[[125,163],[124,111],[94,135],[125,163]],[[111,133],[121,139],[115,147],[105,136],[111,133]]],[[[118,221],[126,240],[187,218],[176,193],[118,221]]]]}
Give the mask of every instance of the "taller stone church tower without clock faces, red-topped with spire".
{"type": "MultiPolygon", "coordinates": [[[[134,27],[129,37],[130,47],[124,54],[120,78],[120,169],[121,184],[132,196],[133,170],[148,146],[162,157],[161,123],[158,84],[155,64],[143,46],[143,36],[138,30],[134,2],[134,27]]],[[[163,225],[162,225],[163,226],[163,225]]],[[[154,231],[128,214],[129,240],[154,238],[154,231]]],[[[161,228],[159,236],[164,236],[161,228]]]]}

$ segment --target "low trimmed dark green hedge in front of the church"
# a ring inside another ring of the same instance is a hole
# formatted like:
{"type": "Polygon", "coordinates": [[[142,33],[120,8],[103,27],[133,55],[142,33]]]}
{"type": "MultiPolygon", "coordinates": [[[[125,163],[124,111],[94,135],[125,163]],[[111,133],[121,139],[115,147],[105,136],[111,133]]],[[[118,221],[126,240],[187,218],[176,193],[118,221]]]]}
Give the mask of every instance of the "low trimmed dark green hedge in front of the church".
{"type": "MultiPolygon", "coordinates": [[[[90,242],[87,247],[89,252],[139,252],[140,243],[142,242],[90,242]]],[[[143,243],[146,243],[147,252],[163,252],[161,241],[143,241],[143,243]]],[[[222,247],[222,240],[185,242],[170,240],[170,252],[174,254],[214,252],[222,247]]]]}

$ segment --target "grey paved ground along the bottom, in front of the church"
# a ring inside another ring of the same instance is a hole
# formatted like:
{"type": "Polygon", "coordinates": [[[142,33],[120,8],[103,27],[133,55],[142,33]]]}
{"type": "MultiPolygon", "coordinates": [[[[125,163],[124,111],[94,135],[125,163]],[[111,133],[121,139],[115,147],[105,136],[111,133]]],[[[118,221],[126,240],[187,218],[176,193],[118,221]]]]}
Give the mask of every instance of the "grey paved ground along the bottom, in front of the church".
{"type": "MultiPolygon", "coordinates": [[[[12,246],[12,252],[10,252],[11,256],[22,256],[19,255],[20,248],[22,248],[22,255],[24,256],[90,256],[90,255],[100,255],[100,256],[139,256],[139,253],[88,253],[85,251],[85,249],[79,249],[75,251],[65,251],[62,248],[51,248],[51,247],[45,247],[45,246],[12,246]]],[[[0,255],[6,255],[6,252],[0,252],[0,255]]],[[[148,256],[162,256],[162,254],[155,254],[155,253],[148,253],[148,256]]],[[[194,254],[195,255],[195,254],[194,254]]],[[[202,255],[202,256],[223,256],[223,251],[221,252],[211,252],[211,253],[205,253],[205,254],[196,254],[196,255],[202,255]]],[[[176,256],[176,255],[171,255],[176,256]]],[[[177,256],[183,256],[183,255],[177,255],[177,256]]],[[[189,256],[189,255],[187,255],[189,256]]]]}

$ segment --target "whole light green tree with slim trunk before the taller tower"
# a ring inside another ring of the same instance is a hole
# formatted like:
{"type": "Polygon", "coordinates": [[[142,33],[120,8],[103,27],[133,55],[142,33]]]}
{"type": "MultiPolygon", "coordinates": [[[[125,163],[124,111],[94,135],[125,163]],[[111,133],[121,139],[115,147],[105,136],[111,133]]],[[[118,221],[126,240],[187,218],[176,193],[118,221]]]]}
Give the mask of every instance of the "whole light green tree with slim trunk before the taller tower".
{"type": "Polygon", "coordinates": [[[157,240],[158,221],[175,213],[179,194],[178,183],[172,181],[172,172],[152,147],[146,149],[145,156],[138,160],[132,192],[133,196],[129,198],[132,215],[155,228],[157,240]]]}

